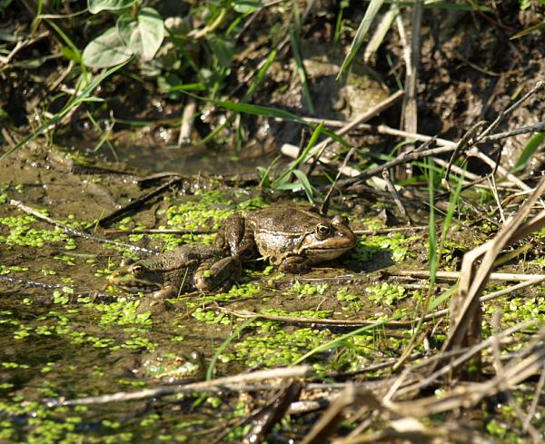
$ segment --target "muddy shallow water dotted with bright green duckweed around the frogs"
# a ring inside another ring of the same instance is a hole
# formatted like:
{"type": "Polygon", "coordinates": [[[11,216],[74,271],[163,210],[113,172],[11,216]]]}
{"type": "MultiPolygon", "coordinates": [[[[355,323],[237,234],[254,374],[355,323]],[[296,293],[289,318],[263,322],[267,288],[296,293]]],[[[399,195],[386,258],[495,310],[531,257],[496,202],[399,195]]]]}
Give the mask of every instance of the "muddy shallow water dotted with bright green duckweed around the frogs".
{"type": "MultiPolygon", "coordinates": [[[[372,319],[390,316],[409,295],[400,293],[400,304],[390,306],[369,305],[363,296],[365,288],[378,281],[362,271],[394,263],[388,246],[352,253],[302,277],[278,275],[256,261],[249,264],[238,287],[222,294],[182,295],[150,304],[145,295],[104,290],[105,276],[124,256],[144,257],[144,253],[71,236],[17,210],[8,200],[45,210],[77,230],[158,252],[184,242],[211,242],[213,234],[187,231],[214,232],[230,212],[251,210],[266,202],[256,192],[225,189],[203,177],[185,178],[183,189],[168,189],[107,227],[165,227],[185,233],[109,235],[95,221],[150,189],[142,189],[140,177],[134,174],[80,166],[66,161],[63,154],[44,152],[21,152],[9,164],[0,165],[0,271],[8,278],[56,286],[27,288],[0,281],[0,441],[209,440],[210,434],[218,432],[218,419],[223,424],[247,414],[267,393],[256,393],[250,399],[222,394],[195,403],[199,395],[194,395],[84,408],[47,408],[46,401],[173,383],[144,375],[142,363],[156,350],[172,350],[176,355],[199,350],[207,365],[230,338],[213,370],[213,375],[222,376],[290,365],[346,332],[285,321],[248,323],[220,309],[302,318],[372,319]],[[362,260],[365,254],[374,255],[374,261],[362,260]]],[[[398,339],[386,338],[381,332],[363,333],[307,362],[323,374],[358,370],[394,356],[399,351],[398,339]]],[[[243,429],[227,430],[229,439],[240,441],[243,429]]]]}

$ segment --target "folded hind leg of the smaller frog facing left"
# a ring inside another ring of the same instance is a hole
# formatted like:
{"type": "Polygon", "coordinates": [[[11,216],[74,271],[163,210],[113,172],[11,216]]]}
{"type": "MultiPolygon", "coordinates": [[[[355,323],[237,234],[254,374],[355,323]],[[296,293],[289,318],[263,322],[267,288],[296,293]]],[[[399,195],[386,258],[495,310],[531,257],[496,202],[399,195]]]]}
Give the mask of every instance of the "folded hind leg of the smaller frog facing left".
{"type": "Polygon", "coordinates": [[[238,258],[227,256],[220,261],[204,261],[194,276],[194,286],[200,291],[222,291],[230,288],[242,271],[238,258]]]}

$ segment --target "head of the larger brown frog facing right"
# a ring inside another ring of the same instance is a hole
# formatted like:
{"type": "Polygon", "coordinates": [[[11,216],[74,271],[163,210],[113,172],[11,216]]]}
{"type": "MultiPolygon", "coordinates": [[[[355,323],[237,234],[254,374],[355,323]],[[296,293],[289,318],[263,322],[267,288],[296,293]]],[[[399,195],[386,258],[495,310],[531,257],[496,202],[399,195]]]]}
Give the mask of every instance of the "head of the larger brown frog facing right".
{"type": "Polygon", "coordinates": [[[320,262],[338,258],[356,245],[356,235],[342,216],[335,216],[331,221],[318,222],[312,232],[308,232],[299,247],[299,254],[308,261],[320,262]]]}

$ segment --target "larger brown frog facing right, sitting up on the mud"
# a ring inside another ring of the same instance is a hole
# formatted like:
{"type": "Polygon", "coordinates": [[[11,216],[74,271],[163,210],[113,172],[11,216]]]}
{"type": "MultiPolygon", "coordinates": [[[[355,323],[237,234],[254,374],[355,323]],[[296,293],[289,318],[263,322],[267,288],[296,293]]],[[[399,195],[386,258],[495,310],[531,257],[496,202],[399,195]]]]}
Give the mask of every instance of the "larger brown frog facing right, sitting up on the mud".
{"type": "Polygon", "coordinates": [[[298,273],[348,252],[356,236],[342,216],[329,220],[306,208],[278,205],[229,216],[216,245],[241,261],[253,258],[257,250],[281,271],[298,273]]]}

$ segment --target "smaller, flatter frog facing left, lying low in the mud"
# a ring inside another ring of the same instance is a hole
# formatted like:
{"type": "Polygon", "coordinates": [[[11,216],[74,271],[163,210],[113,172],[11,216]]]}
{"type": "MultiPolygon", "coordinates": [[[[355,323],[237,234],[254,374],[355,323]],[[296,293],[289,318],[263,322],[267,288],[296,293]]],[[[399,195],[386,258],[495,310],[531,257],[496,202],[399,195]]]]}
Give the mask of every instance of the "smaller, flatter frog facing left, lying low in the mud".
{"type": "Polygon", "coordinates": [[[238,258],[213,245],[185,244],[156,257],[125,262],[108,282],[124,291],[174,298],[188,291],[222,291],[241,274],[238,258]]]}

